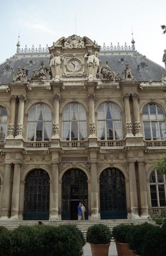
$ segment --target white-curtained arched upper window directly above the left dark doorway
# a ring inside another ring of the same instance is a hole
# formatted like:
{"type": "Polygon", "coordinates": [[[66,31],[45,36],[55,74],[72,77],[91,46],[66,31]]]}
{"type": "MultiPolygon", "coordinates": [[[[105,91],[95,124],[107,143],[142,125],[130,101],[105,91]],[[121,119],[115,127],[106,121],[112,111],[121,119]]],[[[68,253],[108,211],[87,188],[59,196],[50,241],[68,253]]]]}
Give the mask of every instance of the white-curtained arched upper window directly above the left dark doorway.
{"type": "Polygon", "coordinates": [[[52,131],[52,113],[45,104],[34,105],[28,113],[27,140],[50,140],[52,131]]]}

